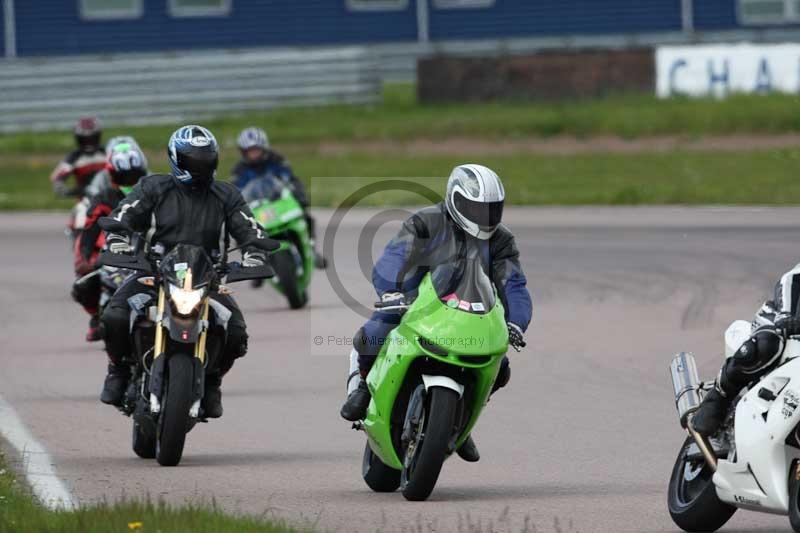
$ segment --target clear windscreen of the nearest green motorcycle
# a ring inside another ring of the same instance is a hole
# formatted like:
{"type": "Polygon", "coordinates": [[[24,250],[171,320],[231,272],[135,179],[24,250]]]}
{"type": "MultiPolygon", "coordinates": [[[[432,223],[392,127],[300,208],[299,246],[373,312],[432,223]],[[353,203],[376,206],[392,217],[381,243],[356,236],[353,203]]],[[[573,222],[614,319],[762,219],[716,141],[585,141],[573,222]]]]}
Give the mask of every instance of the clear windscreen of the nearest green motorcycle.
{"type": "Polygon", "coordinates": [[[434,268],[431,282],[439,299],[448,307],[480,315],[494,308],[497,298],[494,285],[472,241],[467,243],[467,253],[463,257],[434,268]]]}

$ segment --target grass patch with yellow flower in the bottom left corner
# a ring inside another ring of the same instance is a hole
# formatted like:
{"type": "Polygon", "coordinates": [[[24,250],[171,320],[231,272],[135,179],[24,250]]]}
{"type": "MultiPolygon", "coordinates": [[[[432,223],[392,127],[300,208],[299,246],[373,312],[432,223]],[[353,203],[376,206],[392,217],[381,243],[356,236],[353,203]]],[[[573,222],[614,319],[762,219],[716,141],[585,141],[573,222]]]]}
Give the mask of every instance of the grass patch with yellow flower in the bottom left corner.
{"type": "Polygon", "coordinates": [[[301,531],[280,523],[229,516],[213,506],[172,507],[164,503],[100,504],[75,512],[41,507],[4,465],[0,454],[0,533],[288,533],[301,531]]]}

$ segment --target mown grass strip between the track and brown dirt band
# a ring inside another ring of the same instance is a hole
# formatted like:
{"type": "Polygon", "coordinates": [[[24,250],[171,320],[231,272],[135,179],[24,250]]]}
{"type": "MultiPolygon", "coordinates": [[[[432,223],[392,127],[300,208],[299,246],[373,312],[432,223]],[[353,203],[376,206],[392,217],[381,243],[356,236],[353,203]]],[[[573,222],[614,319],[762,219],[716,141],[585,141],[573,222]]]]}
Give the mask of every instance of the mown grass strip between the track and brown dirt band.
{"type": "MultiPolygon", "coordinates": [[[[444,176],[469,154],[392,156],[363,152],[321,156],[292,153],[296,170],[307,177],[314,205],[336,206],[358,187],[387,177],[436,177],[423,180],[443,191],[444,176]],[[334,177],[365,176],[362,179],[334,177]],[[311,177],[311,179],[308,179],[311,177]]],[[[510,204],[644,205],[800,203],[800,149],[742,152],[533,155],[481,157],[503,177],[510,204]]],[[[232,164],[233,160],[226,160],[232,164]]],[[[227,166],[224,168],[228,168],[227,166]]],[[[68,207],[56,201],[43,176],[49,162],[18,163],[0,177],[0,209],[68,207]]],[[[165,170],[163,161],[154,170],[165,170]]],[[[380,193],[364,205],[420,203],[402,193],[380,193]]]]}

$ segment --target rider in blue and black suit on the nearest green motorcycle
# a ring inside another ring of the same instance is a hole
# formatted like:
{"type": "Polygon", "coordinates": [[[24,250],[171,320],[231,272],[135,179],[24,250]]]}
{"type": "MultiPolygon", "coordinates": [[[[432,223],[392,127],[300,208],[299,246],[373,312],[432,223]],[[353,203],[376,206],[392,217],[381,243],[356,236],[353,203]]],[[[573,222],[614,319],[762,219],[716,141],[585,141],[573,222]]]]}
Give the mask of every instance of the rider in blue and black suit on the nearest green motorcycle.
{"type": "MultiPolygon", "coordinates": [[[[404,304],[407,296],[416,295],[426,272],[452,261],[452,255],[437,257],[446,253],[445,243],[455,241],[460,254],[467,241],[474,240],[483,258],[481,266],[505,307],[509,344],[524,347],[523,333],[531,321],[532,304],[514,236],[500,223],[504,200],[503,185],[494,171],[474,164],[454,168],[447,182],[445,201],[406,220],[375,264],[372,282],[381,301],[390,306],[404,304]]],[[[396,313],[376,311],[356,332],[348,378],[348,389],[352,392],[340,413],[345,420],[355,422],[366,416],[371,395],[365,379],[400,318],[396,313]],[[357,384],[354,378],[358,379],[357,384]]],[[[492,392],[504,387],[510,377],[509,361],[504,357],[492,392]]],[[[458,454],[470,462],[480,458],[472,437],[459,448],[458,454]]]]}

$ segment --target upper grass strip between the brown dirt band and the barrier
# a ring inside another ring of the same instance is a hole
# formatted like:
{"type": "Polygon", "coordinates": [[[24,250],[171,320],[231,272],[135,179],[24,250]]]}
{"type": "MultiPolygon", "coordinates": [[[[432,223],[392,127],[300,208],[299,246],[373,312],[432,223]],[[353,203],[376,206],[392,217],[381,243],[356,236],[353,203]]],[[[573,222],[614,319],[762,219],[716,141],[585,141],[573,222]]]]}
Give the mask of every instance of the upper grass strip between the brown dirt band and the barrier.
{"type": "MultiPolygon", "coordinates": [[[[659,100],[627,95],[583,101],[420,105],[413,85],[394,84],[386,87],[378,105],[276,109],[203,124],[228,147],[234,146],[243,127],[252,124],[265,127],[278,145],[451,137],[775,134],[800,132],[800,98],[736,95],[723,101],[659,100]]],[[[110,128],[106,134],[131,133],[143,147],[163,151],[175,126],[110,128]]],[[[0,156],[61,153],[71,143],[64,132],[0,135],[0,156]]]]}

